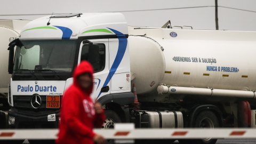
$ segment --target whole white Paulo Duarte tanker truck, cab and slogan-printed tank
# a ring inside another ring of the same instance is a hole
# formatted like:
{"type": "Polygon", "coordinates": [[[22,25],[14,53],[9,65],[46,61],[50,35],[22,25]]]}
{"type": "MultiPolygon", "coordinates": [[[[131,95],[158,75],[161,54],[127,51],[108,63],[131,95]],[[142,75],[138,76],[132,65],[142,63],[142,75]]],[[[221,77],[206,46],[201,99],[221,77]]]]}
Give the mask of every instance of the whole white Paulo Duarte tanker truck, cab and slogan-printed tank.
{"type": "Polygon", "coordinates": [[[10,126],[58,127],[63,92],[74,68],[87,60],[94,68],[91,97],[106,109],[103,129],[119,122],[161,129],[255,127],[256,33],[166,26],[127,27],[120,13],[29,22],[9,44],[10,126]]]}

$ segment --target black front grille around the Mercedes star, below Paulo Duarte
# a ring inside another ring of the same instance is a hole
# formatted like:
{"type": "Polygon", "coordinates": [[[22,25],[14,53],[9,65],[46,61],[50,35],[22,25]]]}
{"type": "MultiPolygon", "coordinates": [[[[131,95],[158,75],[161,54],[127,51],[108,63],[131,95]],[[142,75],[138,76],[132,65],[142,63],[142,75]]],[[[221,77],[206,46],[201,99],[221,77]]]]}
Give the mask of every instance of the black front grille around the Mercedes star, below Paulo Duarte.
{"type": "Polygon", "coordinates": [[[59,108],[46,108],[46,95],[40,95],[41,106],[37,109],[31,106],[31,98],[33,95],[13,95],[13,107],[17,113],[29,116],[42,116],[59,112],[59,108]]]}

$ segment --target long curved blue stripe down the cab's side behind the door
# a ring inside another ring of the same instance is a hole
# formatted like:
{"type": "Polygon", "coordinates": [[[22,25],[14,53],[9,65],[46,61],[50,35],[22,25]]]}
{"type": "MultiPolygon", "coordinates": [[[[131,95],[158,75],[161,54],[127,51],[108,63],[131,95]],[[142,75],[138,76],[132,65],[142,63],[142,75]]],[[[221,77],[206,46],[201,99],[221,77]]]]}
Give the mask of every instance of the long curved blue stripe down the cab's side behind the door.
{"type": "MultiPolygon", "coordinates": [[[[116,58],[113,62],[113,65],[111,66],[111,68],[109,70],[106,81],[105,81],[105,83],[103,84],[102,87],[107,86],[110,79],[115,74],[116,69],[118,68],[118,66],[120,65],[120,63],[121,63],[121,61],[124,57],[124,53],[125,53],[125,50],[126,50],[126,47],[127,47],[127,38],[123,33],[121,33],[120,31],[117,31],[115,29],[111,29],[111,28],[108,28],[108,29],[110,29],[111,31],[113,31],[117,35],[117,38],[118,38],[119,42],[118,42],[118,50],[117,50],[116,58]]],[[[101,92],[99,93],[97,99],[100,97],[100,94],[101,94],[101,92]]]]}

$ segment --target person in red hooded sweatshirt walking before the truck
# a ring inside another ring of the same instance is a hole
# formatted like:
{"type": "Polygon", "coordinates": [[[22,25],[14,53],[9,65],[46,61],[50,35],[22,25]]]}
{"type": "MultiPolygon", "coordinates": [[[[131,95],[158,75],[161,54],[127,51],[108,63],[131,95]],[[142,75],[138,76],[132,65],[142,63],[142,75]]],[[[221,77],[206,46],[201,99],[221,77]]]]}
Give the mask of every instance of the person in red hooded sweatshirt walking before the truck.
{"type": "Polygon", "coordinates": [[[105,121],[105,111],[101,104],[93,101],[93,68],[82,61],[74,70],[73,84],[62,97],[61,119],[56,143],[106,143],[102,135],[93,132],[93,127],[101,127],[105,121]]]}

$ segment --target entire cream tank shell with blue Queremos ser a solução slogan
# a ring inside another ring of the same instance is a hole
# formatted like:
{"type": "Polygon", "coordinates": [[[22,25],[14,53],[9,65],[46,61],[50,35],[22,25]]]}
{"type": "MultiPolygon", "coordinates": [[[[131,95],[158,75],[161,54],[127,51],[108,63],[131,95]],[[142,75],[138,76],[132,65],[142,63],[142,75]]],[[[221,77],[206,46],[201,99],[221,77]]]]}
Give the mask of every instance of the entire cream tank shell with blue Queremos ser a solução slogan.
{"type": "Polygon", "coordinates": [[[129,35],[138,94],[150,95],[161,83],[256,91],[254,31],[129,27],[129,35]]]}

